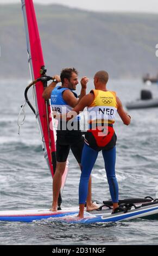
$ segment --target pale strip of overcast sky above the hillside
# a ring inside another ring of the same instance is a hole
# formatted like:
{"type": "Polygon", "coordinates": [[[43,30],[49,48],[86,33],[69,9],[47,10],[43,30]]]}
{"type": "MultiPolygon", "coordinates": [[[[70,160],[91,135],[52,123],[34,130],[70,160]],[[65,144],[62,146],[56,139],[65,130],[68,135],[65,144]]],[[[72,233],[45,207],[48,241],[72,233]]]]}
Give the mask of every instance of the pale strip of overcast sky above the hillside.
{"type": "MultiPolygon", "coordinates": [[[[0,3],[20,3],[20,0],[0,0],[0,3]]],[[[34,3],[58,3],[86,10],[136,11],[158,13],[158,0],[34,0],[34,3]]]]}

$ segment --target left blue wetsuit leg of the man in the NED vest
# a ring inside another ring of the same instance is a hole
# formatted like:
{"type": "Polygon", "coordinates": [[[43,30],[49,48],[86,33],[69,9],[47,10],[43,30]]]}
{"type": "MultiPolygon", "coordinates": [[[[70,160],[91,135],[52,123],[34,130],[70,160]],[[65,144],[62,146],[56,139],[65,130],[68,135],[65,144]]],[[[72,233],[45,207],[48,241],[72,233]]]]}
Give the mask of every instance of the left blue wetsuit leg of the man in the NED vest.
{"type": "Polygon", "coordinates": [[[90,148],[86,143],[81,158],[81,176],[79,183],[79,204],[85,204],[88,193],[90,175],[96,162],[98,151],[90,148]]]}

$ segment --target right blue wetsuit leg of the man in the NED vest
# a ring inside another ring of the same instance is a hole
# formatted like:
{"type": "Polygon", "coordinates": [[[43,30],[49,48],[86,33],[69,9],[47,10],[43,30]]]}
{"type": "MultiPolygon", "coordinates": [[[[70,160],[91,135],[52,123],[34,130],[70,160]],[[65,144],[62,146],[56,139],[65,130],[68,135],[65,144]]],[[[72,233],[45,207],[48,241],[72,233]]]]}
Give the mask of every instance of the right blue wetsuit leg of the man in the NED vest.
{"type": "Polygon", "coordinates": [[[107,151],[103,150],[102,154],[104,157],[111,199],[113,203],[118,203],[118,183],[115,175],[116,147],[107,151]]]}

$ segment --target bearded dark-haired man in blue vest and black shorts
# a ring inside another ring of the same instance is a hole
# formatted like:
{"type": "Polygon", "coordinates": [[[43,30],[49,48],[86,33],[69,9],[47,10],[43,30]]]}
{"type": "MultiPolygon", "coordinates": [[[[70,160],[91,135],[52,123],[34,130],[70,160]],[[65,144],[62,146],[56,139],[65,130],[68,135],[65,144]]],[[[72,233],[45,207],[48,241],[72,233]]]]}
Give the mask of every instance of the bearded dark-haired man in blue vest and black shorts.
{"type": "MultiPolygon", "coordinates": [[[[43,98],[50,99],[53,111],[57,111],[60,114],[68,113],[78,102],[86,95],[86,84],[89,78],[81,78],[81,92],[78,96],[73,91],[76,89],[78,82],[78,71],[76,69],[63,69],[61,75],[55,75],[53,82],[44,90],[43,98]],[[56,84],[61,82],[61,86],[56,84]]],[[[81,135],[79,126],[79,117],[73,120],[73,129],[70,130],[67,127],[67,122],[59,121],[57,128],[56,139],[56,169],[53,177],[53,203],[51,211],[57,211],[58,209],[58,197],[60,193],[62,175],[66,167],[66,161],[69,154],[69,149],[75,159],[81,166],[81,154],[84,147],[84,137],[81,135]]],[[[91,200],[91,177],[89,179],[89,193],[86,200],[87,211],[97,209],[98,206],[92,203],[91,200]]]]}

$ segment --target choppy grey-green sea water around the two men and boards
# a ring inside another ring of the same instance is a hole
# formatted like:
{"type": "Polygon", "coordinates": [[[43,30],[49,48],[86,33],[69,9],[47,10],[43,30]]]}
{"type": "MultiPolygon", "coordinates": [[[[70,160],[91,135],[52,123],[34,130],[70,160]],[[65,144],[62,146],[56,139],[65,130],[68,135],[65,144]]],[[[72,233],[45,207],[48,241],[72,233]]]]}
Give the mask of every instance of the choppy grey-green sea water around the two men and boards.
{"type": "MultiPolygon", "coordinates": [[[[43,157],[35,115],[26,106],[26,120],[18,135],[17,115],[24,102],[28,81],[1,80],[0,95],[0,206],[1,210],[48,209],[52,204],[52,177],[43,157]]],[[[92,81],[87,92],[93,88],[92,81]]],[[[111,80],[125,103],[140,97],[145,88],[140,80],[111,80]]],[[[149,89],[158,97],[157,84],[149,89]]],[[[77,92],[80,92],[78,85],[77,92]]],[[[32,90],[29,97],[32,100],[32,90]]],[[[131,124],[125,126],[117,114],[116,175],[119,198],[158,197],[158,109],[128,111],[131,124]]],[[[80,169],[69,153],[69,173],[62,193],[62,207],[78,205],[80,169]]],[[[92,197],[110,199],[104,161],[99,153],[92,171],[92,197]]],[[[158,222],[125,221],[92,225],[63,224],[51,220],[33,223],[0,223],[1,245],[157,245],[158,222]]]]}

